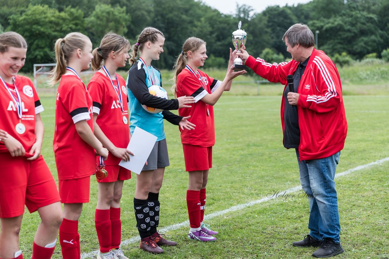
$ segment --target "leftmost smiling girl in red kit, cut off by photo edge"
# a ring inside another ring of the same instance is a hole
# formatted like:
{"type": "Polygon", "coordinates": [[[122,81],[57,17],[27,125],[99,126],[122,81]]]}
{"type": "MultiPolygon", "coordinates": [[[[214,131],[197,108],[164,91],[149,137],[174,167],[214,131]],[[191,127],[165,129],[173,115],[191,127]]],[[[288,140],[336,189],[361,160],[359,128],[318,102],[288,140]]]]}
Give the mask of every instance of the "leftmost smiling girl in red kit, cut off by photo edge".
{"type": "Polygon", "coordinates": [[[26,59],[27,43],[18,33],[0,35],[0,258],[22,259],[19,230],[24,206],[38,210],[33,259],[51,258],[62,221],[60,196],[40,151],[43,107],[26,76],[17,75],[26,59]]]}

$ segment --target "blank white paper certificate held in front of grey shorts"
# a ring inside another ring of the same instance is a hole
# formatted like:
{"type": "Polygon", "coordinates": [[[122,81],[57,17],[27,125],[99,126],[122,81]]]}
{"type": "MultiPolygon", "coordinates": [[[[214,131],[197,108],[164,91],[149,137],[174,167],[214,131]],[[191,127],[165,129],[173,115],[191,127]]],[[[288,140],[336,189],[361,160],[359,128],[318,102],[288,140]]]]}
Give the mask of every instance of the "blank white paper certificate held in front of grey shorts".
{"type": "Polygon", "coordinates": [[[134,153],[135,156],[130,155],[130,161],[127,162],[121,160],[119,165],[131,170],[135,174],[140,174],[156,141],[156,136],[139,127],[135,127],[130,143],[127,146],[127,149],[134,153]]]}

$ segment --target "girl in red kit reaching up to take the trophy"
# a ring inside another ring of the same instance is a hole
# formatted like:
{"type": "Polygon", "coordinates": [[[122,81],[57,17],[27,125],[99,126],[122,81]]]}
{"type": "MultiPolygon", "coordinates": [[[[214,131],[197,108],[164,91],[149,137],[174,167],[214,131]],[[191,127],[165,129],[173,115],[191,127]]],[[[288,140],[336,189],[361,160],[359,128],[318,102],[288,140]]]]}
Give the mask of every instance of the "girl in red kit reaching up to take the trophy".
{"type": "Polygon", "coordinates": [[[232,70],[236,51],[230,49],[229,68],[223,82],[218,81],[202,71],[207,58],[205,42],[199,38],[188,38],[182,46],[182,52],[175,62],[175,76],[172,90],[177,97],[193,96],[192,108],[180,108],[180,116],[191,116],[197,125],[195,130],[180,130],[184,149],[186,171],[189,172],[189,186],[186,194],[190,231],[192,240],[214,241],[216,231],[203,223],[205,206],[205,187],[209,169],[212,167],[212,146],[215,144],[215,123],[213,105],[219,100],[223,91],[229,91],[232,79],[246,73],[245,70],[232,70]]]}

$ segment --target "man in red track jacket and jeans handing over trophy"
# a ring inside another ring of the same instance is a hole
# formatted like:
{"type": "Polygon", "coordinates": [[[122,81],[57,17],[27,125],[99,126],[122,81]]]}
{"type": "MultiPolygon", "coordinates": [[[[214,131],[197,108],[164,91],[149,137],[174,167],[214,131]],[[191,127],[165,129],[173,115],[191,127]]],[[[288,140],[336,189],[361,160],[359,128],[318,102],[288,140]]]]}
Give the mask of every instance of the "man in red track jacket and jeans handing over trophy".
{"type": "Polygon", "coordinates": [[[335,256],[343,252],[334,181],[347,134],[342,85],[333,61],[314,48],[314,35],[308,26],[294,24],[282,39],[292,54],[289,62],[266,63],[245,50],[239,56],[261,77],[285,85],[281,100],[283,143],[285,148],[296,149],[300,182],[310,207],[310,233],[293,245],[320,246],[314,257],[335,256]],[[287,75],[293,75],[293,92],[287,87],[287,75]]]}

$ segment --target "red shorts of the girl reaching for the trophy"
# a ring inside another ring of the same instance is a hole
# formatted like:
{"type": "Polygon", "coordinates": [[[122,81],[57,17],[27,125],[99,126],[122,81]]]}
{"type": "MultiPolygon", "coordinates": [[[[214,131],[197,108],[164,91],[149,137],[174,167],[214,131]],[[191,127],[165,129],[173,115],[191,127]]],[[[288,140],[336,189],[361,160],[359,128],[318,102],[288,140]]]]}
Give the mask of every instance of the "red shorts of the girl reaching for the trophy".
{"type": "Polygon", "coordinates": [[[212,168],[212,146],[201,147],[182,144],[184,149],[185,170],[203,171],[212,168]]]}

